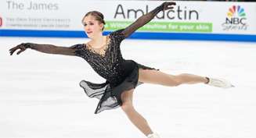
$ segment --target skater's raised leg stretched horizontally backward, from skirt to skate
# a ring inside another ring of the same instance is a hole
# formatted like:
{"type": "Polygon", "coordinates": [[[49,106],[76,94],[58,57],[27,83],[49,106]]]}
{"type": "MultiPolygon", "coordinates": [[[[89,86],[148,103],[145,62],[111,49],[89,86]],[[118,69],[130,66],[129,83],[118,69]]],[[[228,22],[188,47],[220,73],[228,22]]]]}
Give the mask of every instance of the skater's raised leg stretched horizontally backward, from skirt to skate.
{"type": "Polygon", "coordinates": [[[139,81],[142,83],[155,83],[164,86],[178,86],[183,83],[207,83],[207,77],[188,73],[171,75],[154,69],[139,69],[139,81]]]}

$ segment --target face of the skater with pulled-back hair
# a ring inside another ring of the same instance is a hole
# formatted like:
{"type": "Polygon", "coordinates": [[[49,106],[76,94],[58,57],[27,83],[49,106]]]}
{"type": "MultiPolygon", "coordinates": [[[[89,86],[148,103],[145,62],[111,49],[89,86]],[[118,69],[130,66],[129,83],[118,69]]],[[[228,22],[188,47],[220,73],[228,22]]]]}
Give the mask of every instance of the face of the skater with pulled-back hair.
{"type": "Polygon", "coordinates": [[[103,33],[103,23],[100,23],[96,20],[95,16],[85,16],[85,19],[82,21],[85,29],[85,33],[89,38],[99,36],[103,33]]]}

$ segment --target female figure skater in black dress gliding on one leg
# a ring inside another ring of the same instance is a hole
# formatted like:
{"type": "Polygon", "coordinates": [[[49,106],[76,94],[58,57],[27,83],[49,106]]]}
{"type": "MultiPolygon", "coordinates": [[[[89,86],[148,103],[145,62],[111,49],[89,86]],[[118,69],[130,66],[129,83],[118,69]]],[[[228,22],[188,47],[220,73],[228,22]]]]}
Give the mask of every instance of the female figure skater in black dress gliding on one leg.
{"type": "Polygon", "coordinates": [[[153,83],[163,86],[176,87],[181,84],[205,83],[215,87],[233,87],[226,80],[218,80],[204,76],[182,73],[170,75],[160,72],[159,69],[141,65],[132,60],[125,60],[121,55],[120,44],[135,30],[149,23],[158,12],[173,9],[175,2],[164,2],[151,12],[140,16],[128,27],[116,30],[103,36],[104,19],[101,12],[92,11],[82,19],[85,33],[90,38],[85,44],[74,44],[70,47],[59,47],[52,44],[22,43],[9,50],[10,55],[17,49],[19,55],[27,48],[56,55],[74,55],[84,58],[92,69],[106,79],[105,83],[91,83],[81,80],[80,86],[88,97],[96,97],[99,104],[95,114],[106,109],[121,107],[128,119],[148,138],[159,138],[159,135],[150,129],[146,119],[137,112],[132,103],[132,94],[139,84],[153,83]]]}

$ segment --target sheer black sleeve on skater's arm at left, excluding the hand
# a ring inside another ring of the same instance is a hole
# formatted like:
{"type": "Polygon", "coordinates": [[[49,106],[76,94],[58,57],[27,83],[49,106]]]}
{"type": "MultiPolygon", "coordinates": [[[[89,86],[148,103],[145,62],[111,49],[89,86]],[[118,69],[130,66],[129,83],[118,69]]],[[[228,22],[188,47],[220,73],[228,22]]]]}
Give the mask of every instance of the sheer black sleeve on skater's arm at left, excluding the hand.
{"type": "Polygon", "coordinates": [[[57,55],[75,55],[76,45],[71,47],[59,47],[52,44],[34,44],[28,43],[28,48],[36,51],[41,51],[47,54],[57,54],[57,55]]]}

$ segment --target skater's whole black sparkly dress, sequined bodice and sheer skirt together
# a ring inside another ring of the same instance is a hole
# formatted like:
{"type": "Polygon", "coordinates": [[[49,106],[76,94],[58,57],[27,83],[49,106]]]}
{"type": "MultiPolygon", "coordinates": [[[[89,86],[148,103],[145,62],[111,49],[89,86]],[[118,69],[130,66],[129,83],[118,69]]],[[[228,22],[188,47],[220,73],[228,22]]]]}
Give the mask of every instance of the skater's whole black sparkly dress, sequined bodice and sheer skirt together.
{"type": "Polygon", "coordinates": [[[87,80],[80,82],[88,97],[99,99],[95,114],[121,106],[122,92],[142,83],[138,81],[139,69],[153,69],[122,58],[120,44],[124,40],[124,34],[121,32],[122,30],[117,30],[108,35],[110,41],[106,46],[105,55],[92,51],[86,44],[72,46],[75,55],[84,58],[99,76],[106,79],[105,83],[92,83],[87,80]]]}

